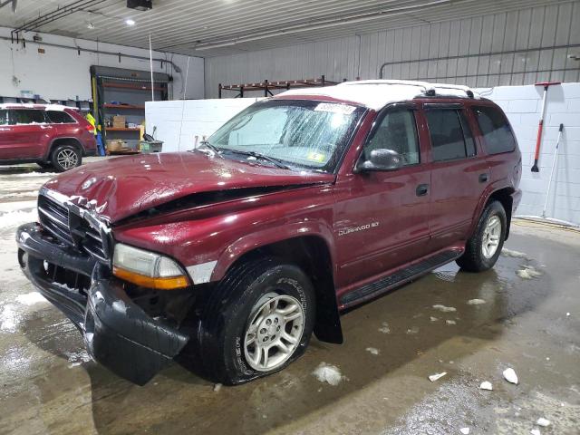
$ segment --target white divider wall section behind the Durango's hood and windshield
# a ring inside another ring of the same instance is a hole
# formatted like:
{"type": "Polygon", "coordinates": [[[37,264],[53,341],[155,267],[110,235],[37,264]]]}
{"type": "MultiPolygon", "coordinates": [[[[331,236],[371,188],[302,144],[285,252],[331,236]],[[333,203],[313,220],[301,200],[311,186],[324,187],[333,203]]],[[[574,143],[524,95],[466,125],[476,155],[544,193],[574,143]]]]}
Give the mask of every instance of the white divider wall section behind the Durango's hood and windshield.
{"type": "Polygon", "coordinates": [[[185,151],[195,148],[198,141],[243,111],[259,98],[225,98],[215,100],[172,100],[169,102],[146,102],[146,131],[152,134],[157,127],[155,139],[163,140],[163,151],[185,151]],[[182,122],[183,121],[183,122],[182,122]]]}

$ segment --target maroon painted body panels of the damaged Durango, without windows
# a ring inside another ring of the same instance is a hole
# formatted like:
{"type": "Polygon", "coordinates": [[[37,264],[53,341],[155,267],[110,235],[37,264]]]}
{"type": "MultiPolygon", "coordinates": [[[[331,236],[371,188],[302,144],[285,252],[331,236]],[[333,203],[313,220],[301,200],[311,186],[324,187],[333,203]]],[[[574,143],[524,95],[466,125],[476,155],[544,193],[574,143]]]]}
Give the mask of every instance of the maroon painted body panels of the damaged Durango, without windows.
{"type": "MultiPolygon", "coordinates": [[[[292,98],[335,101],[318,96],[292,98]]],[[[217,260],[212,281],[222,278],[229,266],[256,247],[292,237],[319,237],[333,260],[336,292],[343,295],[441,248],[462,249],[488,195],[503,188],[517,192],[519,151],[488,157],[470,113],[478,155],[431,162],[429,132],[421,107],[423,102],[434,101],[413,102],[418,107],[421,163],[392,172],[353,172],[377,116],[377,112],[367,111],[336,174],[275,169],[202,152],[171,153],[125,157],[73,169],[46,187],[78,201],[92,201],[110,220],[113,236],[120,242],[167,254],[183,266],[217,260]],[[489,182],[478,183],[478,175],[486,170],[489,182]],[[430,184],[427,196],[416,196],[419,184],[430,184]],[[292,189],[131,220],[140,211],[189,195],[275,186],[292,189]],[[378,223],[374,230],[339,236],[345,228],[373,222],[378,223]]],[[[514,198],[517,203],[517,193],[514,198]]]]}

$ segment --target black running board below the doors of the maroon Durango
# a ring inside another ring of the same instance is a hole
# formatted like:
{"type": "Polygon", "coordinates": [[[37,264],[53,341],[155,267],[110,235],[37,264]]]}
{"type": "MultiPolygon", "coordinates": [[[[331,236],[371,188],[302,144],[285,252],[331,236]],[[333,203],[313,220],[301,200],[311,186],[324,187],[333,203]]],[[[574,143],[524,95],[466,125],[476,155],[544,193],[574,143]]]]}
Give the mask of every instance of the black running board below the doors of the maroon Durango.
{"type": "Polygon", "coordinates": [[[411,281],[413,278],[425,275],[437,267],[447,265],[463,254],[462,249],[449,249],[434,256],[429,256],[419,263],[397,270],[394,274],[387,275],[381,279],[353,290],[341,298],[341,304],[346,307],[354,303],[362,302],[380,295],[391,288],[411,281]]]}

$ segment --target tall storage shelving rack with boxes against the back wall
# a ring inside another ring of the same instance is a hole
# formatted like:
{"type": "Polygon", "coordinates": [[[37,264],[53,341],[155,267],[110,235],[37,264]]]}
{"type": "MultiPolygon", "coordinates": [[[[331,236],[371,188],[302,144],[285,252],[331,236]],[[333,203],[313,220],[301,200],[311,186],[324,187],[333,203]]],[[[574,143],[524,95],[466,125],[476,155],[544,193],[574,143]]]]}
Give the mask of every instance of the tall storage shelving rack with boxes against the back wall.
{"type": "MultiPolygon", "coordinates": [[[[123,115],[127,123],[140,125],[145,120],[145,102],[151,100],[149,71],[125,70],[93,65],[91,67],[93,111],[98,114],[103,140],[122,139],[136,150],[140,128],[108,127],[114,115],[123,115]]],[[[170,78],[168,74],[153,73],[155,101],[168,99],[170,78]]]]}

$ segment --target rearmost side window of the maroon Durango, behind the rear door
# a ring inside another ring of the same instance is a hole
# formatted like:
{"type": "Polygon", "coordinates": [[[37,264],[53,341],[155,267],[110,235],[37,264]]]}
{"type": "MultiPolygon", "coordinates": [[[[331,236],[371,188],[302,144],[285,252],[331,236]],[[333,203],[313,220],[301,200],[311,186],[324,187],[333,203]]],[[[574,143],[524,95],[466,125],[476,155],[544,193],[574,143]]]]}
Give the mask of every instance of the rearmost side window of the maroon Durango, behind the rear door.
{"type": "Polygon", "coordinates": [[[496,107],[473,108],[488,154],[516,150],[516,138],[506,116],[496,107]]]}

